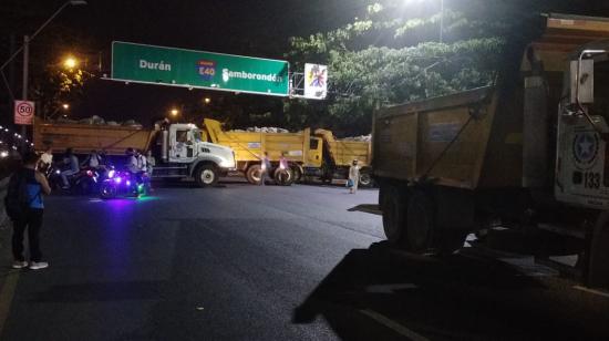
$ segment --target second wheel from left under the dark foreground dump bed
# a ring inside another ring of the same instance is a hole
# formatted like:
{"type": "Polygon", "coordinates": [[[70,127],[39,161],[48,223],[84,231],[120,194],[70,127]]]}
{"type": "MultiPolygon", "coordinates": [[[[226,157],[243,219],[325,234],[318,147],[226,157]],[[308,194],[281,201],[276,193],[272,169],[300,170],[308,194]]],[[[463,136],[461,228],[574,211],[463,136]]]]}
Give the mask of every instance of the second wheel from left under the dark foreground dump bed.
{"type": "Polygon", "coordinates": [[[409,199],[406,218],[406,249],[424,254],[432,247],[435,219],[433,203],[424,192],[415,192],[409,199]]]}

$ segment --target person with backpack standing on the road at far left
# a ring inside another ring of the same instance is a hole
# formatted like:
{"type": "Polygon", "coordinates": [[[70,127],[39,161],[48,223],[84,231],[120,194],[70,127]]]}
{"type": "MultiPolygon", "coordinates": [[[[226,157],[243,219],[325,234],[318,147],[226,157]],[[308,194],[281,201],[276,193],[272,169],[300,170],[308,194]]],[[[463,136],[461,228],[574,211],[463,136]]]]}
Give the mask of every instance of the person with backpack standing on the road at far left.
{"type": "Polygon", "coordinates": [[[44,211],[43,194],[49,195],[51,187],[47,177],[35,169],[39,157],[34,152],[23,155],[23,166],[13,173],[9,182],[4,206],[13,221],[12,255],[14,269],[25,268],[28,262],[23,257],[23,235],[28,230],[30,242],[30,269],[38,270],[49,267],[42,261],[40,251],[40,229],[44,211]]]}

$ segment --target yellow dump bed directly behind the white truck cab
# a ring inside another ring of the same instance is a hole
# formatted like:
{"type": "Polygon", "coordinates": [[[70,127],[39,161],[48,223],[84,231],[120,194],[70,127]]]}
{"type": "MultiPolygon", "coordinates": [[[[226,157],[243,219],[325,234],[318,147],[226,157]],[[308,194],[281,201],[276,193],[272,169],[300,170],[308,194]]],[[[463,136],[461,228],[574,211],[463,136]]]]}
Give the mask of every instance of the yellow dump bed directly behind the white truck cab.
{"type": "Polygon", "coordinates": [[[204,124],[211,142],[231,147],[237,162],[260,161],[267,152],[270,161],[279,161],[286,153],[288,161],[303,163],[309,151],[309,130],[298,133],[225,132],[216,120],[205,118],[204,124]]]}

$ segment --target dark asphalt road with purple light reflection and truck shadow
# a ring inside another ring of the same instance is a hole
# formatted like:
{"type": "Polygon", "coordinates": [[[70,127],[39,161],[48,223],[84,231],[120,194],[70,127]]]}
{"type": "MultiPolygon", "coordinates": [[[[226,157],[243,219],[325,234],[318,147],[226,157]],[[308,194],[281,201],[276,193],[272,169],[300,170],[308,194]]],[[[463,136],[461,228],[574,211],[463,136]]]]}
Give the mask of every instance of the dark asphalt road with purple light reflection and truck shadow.
{"type": "Polygon", "coordinates": [[[2,242],[1,339],[609,338],[609,296],[525,258],[392,250],[379,216],[348,211],[376,195],[225,183],[137,200],[52,196],[49,269],[9,270],[2,242]]]}

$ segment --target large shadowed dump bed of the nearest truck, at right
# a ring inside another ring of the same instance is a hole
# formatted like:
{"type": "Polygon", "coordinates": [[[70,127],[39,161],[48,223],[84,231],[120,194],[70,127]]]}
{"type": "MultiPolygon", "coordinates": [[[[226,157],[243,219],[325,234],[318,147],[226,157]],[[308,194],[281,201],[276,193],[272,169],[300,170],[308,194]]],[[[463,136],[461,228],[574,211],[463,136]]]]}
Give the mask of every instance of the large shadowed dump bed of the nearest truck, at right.
{"type": "Polygon", "coordinates": [[[522,126],[506,115],[496,120],[496,107],[488,86],[375,113],[374,174],[471,189],[517,186],[522,126]]]}

